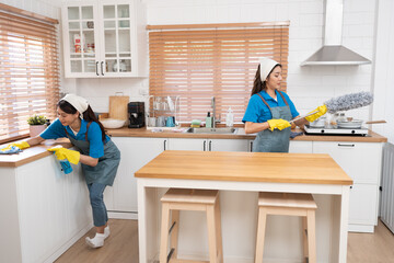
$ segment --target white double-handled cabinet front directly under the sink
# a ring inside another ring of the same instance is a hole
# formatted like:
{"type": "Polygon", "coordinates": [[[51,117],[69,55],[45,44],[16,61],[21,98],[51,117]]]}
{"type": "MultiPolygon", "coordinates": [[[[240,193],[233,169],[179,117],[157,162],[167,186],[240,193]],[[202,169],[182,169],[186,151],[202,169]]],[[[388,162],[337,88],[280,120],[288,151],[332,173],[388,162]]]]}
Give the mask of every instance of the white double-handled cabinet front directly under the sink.
{"type": "Polygon", "coordinates": [[[247,151],[247,140],[170,138],[169,149],[200,151],[247,151]]]}

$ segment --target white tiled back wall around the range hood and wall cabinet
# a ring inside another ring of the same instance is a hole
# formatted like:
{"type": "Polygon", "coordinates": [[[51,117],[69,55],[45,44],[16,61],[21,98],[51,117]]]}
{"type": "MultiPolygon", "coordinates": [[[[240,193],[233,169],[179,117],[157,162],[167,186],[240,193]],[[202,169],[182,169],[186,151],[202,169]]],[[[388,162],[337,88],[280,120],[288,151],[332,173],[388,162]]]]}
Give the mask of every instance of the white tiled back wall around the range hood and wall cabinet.
{"type": "MultiPolygon", "coordinates": [[[[58,7],[67,0],[3,0],[3,2],[59,19],[58,7]]],[[[393,34],[391,37],[386,34],[389,30],[394,28],[394,22],[387,24],[390,14],[393,13],[387,8],[394,9],[391,0],[380,0],[382,2],[380,9],[378,9],[378,0],[344,1],[343,44],[372,61],[376,50],[376,65],[324,67],[300,67],[304,59],[322,46],[323,0],[144,0],[144,2],[148,9],[148,24],[289,20],[288,93],[300,113],[311,111],[333,96],[374,90],[373,111],[372,107],[363,107],[349,111],[347,115],[362,119],[372,117],[393,119],[393,115],[390,115],[393,111],[387,101],[387,95],[392,94],[390,84],[393,83],[393,75],[387,72],[393,72],[389,70],[393,69],[393,59],[387,59],[386,56],[393,56],[394,44],[393,34]],[[378,11],[385,12],[386,15],[378,19],[378,11]],[[382,76],[382,67],[387,66],[390,68],[384,71],[385,76],[382,76]],[[375,78],[373,78],[374,69],[376,69],[375,78]],[[376,105],[378,101],[379,105],[376,105]],[[380,105],[383,104],[385,106],[382,110],[380,105]]],[[[130,100],[146,100],[141,94],[149,90],[149,81],[147,79],[63,79],[62,90],[88,98],[97,112],[107,112],[108,95],[115,92],[124,92],[130,96],[130,100]]],[[[385,127],[387,126],[372,126],[373,129],[389,137],[385,127]]]]}

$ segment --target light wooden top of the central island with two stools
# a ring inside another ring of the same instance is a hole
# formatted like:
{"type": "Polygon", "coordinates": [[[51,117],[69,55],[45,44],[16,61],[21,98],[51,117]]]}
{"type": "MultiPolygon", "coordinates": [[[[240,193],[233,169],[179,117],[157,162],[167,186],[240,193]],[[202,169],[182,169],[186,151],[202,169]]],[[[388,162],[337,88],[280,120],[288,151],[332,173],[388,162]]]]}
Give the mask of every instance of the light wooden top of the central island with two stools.
{"type": "Polygon", "coordinates": [[[166,150],[136,178],[351,185],[328,155],[166,150]]]}

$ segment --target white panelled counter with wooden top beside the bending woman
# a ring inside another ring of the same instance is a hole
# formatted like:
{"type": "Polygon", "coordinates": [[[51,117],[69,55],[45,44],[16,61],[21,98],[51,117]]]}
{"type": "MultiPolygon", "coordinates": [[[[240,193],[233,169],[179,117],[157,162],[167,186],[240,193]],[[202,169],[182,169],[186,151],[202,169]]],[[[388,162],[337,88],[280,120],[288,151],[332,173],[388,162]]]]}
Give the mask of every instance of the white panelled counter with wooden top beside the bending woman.
{"type": "Polygon", "coordinates": [[[65,174],[46,140],[0,156],[0,262],[54,262],[93,226],[80,165],[65,174]]]}

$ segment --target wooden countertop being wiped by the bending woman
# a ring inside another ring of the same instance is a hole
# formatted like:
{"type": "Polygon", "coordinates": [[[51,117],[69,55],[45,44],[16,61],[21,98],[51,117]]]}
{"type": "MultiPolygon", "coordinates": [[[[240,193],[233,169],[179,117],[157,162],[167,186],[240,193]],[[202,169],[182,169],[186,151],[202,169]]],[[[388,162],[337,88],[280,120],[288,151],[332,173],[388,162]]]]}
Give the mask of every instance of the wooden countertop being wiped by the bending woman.
{"type": "Polygon", "coordinates": [[[61,145],[65,148],[70,148],[72,146],[70,140],[67,138],[61,138],[57,140],[45,140],[43,144],[24,149],[20,153],[0,155],[0,167],[15,168],[38,160],[40,158],[50,156],[53,153],[47,151],[46,149],[57,145],[61,145]]]}

